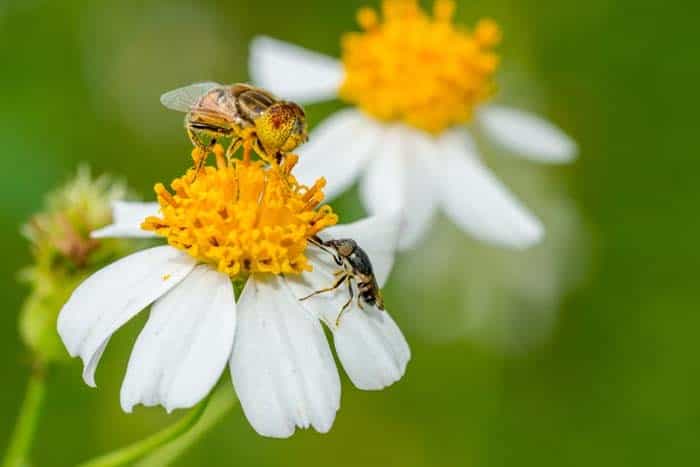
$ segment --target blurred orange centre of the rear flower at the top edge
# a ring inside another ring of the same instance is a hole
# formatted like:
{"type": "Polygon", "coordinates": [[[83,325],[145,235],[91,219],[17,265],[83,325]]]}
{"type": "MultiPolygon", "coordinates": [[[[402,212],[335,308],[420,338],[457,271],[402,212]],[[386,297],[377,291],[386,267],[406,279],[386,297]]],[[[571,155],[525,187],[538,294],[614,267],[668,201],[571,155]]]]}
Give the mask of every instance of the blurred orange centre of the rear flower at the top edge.
{"type": "Polygon", "coordinates": [[[384,0],[383,21],[358,13],[364,32],[343,37],[340,96],[383,121],[430,133],[465,123],[494,91],[501,33],[491,20],[469,32],[452,23],[453,0],[435,0],[429,16],[417,0],[384,0]]]}

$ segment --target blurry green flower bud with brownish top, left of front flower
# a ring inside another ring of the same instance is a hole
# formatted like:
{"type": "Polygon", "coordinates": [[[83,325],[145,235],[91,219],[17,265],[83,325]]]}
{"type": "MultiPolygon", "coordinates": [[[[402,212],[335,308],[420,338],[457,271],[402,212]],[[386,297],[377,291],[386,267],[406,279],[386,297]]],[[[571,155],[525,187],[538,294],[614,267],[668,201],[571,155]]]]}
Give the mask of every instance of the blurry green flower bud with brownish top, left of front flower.
{"type": "Polygon", "coordinates": [[[93,178],[80,167],[74,178],[46,196],[44,209],[22,228],[34,262],[20,272],[30,293],[22,306],[19,331],[44,362],[68,360],[56,331],[63,304],[87,276],[133,251],[133,242],[93,239],[90,232],[111,223],[111,204],[128,198],[122,182],[93,178]]]}

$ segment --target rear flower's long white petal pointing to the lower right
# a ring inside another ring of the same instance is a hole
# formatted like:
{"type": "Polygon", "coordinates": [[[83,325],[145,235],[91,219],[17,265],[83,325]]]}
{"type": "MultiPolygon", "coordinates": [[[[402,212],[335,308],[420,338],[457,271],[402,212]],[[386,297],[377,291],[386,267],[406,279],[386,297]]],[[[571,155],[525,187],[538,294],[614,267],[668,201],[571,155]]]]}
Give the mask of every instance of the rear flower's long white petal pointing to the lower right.
{"type": "Polygon", "coordinates": [[[441,138],[444,155],[442,203],[462,229],[479,240],[526,248],[544,236],[541,222],[477,158],[466,133],[441,138]]]}

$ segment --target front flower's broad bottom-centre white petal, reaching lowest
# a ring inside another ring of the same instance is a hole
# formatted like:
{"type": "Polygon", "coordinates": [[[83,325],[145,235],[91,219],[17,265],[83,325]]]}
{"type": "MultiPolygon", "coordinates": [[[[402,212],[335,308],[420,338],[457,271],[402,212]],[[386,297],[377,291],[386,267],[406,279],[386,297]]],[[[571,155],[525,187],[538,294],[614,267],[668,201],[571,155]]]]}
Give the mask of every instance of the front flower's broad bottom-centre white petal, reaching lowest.
{"type": "Polygon", "coordinates": [[[255,431],[286,438],[295,427],[330,430],[340,379],[318,320],[284,278],[251,277],[238,303],[231,376],[255,431]]]}

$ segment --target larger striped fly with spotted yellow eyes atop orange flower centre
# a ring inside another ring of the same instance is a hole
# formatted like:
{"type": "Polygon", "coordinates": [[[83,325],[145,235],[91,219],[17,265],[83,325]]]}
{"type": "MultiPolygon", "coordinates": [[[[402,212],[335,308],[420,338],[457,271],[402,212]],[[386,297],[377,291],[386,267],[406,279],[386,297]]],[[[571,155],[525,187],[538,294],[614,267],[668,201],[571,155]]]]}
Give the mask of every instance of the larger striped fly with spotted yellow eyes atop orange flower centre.
{"type": "Polygon", "coordinates": [[[166,92],[160,102],[187,113],[187,135],[205,156],[221,138],[230,138],[229,160],[243,146],[244,157],[252,148],[261,158],[279,164],[308,139],[306,115],[299,105],[248,84],[195,83],[166,92]]]}

